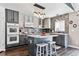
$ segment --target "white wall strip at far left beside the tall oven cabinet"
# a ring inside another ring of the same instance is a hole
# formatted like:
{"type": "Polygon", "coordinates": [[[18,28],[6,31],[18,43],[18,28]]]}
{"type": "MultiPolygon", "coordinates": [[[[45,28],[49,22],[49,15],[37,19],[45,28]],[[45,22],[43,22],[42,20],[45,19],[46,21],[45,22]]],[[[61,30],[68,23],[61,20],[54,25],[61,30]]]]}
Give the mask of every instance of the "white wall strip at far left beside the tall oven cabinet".
{"type": "Polygon", "coordinates": [[[5,8],[0,7],[0,51],[5,50],[5,8]]]}

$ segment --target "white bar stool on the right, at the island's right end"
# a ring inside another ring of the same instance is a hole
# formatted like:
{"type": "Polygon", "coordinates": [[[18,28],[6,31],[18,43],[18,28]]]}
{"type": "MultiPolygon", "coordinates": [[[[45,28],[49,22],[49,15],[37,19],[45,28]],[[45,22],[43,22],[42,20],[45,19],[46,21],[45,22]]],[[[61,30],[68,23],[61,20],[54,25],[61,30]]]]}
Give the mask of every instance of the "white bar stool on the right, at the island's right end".
{"type": "Polygon", "coordinates": [[[55,43],[56,42],[54,42],[54,41],[48,42],[48,44],[49,44],[48,55],[49,56],[52,56],[52,55],[55,55],[56,56],[57,55],[55,43]]]}

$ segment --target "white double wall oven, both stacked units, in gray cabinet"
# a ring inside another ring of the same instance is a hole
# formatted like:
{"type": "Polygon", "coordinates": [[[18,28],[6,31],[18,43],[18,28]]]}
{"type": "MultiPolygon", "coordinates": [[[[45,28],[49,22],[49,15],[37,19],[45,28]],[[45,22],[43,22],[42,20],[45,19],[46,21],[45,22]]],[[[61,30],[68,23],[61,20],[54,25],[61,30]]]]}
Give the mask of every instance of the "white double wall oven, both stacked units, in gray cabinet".
{"type": "Polygon", "coordinates": [[[19,43],[19,24],[7,23],[7,44],[19,43]]]}

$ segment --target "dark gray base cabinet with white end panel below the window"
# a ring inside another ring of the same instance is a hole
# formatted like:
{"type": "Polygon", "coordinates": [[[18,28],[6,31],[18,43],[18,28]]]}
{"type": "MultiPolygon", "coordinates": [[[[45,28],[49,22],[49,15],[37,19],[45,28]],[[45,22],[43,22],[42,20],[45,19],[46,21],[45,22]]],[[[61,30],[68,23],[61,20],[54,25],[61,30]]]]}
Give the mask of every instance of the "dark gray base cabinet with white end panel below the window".
{"type": "Polygon", "coordinates": [[[59,35],[58,37],[54,37],[53,41],[56,42],[57,45],[67,48],[68,47],[68,35],[59,35]]]}

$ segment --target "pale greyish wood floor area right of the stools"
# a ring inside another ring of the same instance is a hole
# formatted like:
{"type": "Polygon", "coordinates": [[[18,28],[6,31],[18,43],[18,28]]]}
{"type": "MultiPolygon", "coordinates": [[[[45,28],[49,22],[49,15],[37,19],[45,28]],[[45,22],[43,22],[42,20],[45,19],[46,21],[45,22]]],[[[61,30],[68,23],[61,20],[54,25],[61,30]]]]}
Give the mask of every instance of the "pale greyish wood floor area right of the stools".
{"type": "Polygon", "coordinates": [[[76,48],[62,48],[57,51],[58,56],[79,56],[79,49],[76,48]]]}

